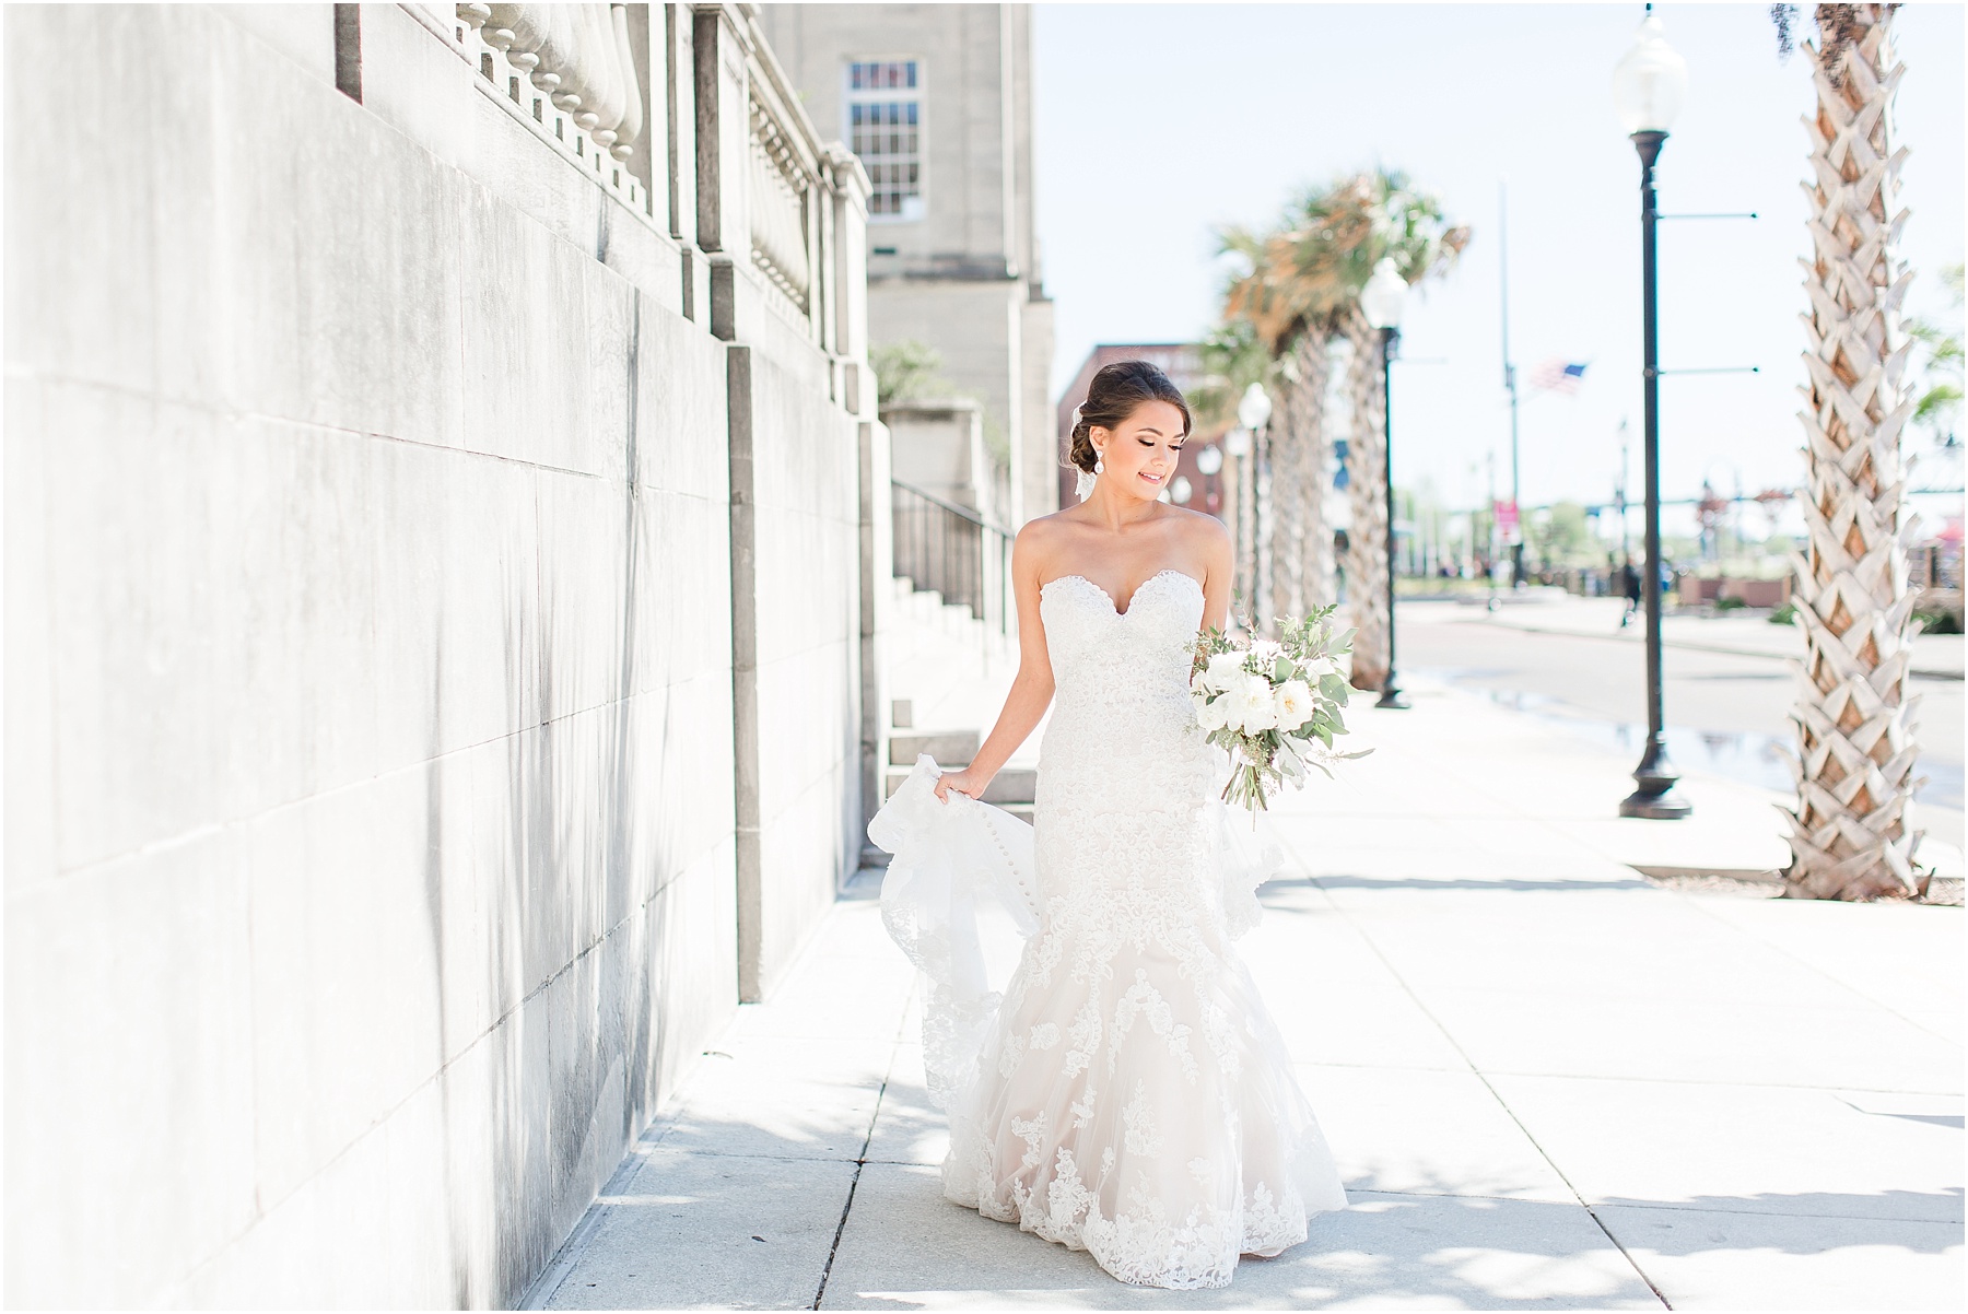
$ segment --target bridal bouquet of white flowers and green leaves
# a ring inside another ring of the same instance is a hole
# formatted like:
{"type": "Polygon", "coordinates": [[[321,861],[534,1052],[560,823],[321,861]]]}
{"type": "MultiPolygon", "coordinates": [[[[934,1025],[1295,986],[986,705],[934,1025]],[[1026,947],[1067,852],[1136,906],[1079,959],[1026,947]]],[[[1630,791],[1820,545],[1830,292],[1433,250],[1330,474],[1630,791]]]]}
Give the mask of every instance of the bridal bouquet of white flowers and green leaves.
{"type": "Polygon", "coordinates": [[[1334,608],[1321,608],[1303,622],[1279,622],[1279,637],[1232,639],[1222,629],[1197,637],[1189,696],[1210,744],[1228,749],[1232,773],[1224,803],[1256,812],[1285,781],[1303,783],[1305,767],[1328,777],[1328,761],[1366,757],[1334,753],[1332,736],[1346,734],[1346,677],[1338,657],[1352,647],[1352,629],[1332,633],[1334,608]]]}

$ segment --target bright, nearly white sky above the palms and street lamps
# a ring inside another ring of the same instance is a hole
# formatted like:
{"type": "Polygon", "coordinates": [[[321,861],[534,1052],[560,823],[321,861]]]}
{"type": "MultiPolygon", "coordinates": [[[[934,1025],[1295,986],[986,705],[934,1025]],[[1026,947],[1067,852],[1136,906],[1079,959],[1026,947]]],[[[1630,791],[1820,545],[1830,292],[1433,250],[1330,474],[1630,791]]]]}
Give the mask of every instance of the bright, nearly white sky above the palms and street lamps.
{"type": "MultiPolygon", "coordinates": [[[[1761,366],[1663,380],[1667,496],[1801,476],[1807,138],[1801,55],[1777,61],[1763,4],[1663,4],[1689,100],[1661,157],[1663,212],[1759,220],[1661,226],[1661,358],[1761,366]]],[[[1805,8],[1809,14],[1809,6],[1805,8]]],[[[1470,222],[1460,268],[1411,299],[1395,374],[1395,480],[1450,504],[1484,496],[1509,413],[1498,315],[1498,183],[1509,183],[1511,348],[1521,368],[1590,360],[1578,397],[1521,411],[1523,502],[1604,500],[1631,419],[1639,492],[1639,165],[1612,112],[1639,4],[1039,6],[1037,205],[1063,388],[1096,342],[1187,340],[1212,323],[1212,230],[1263,224],[1305,183],[1374,163],[1409,171],[1470,222]],[[1443,364],[1425,364],[1441,360],[1443,364]]],[[[1911,305],[1944,305],[1962,260],[1964,26],[1952,4],[1895,20],[1907,65],[1899,142],[1911,305]]],[[[1917,439],[1925,445],[1927,439],[1917,439]]]]}

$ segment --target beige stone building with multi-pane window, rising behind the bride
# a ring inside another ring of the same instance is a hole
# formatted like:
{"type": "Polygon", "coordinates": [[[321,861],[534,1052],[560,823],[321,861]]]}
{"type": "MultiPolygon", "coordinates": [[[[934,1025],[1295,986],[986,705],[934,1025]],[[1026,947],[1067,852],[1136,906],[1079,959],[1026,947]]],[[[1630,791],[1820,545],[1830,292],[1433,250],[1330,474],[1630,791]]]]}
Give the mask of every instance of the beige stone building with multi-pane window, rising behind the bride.
{"type": "Polygon", "coordinates": [[[868,336],[917,340],[984,407],[996,517],[1059,508],[1053,305],[1033,226],[1031,8],[766,4],[807,114],[874,179],[868,336]]]}

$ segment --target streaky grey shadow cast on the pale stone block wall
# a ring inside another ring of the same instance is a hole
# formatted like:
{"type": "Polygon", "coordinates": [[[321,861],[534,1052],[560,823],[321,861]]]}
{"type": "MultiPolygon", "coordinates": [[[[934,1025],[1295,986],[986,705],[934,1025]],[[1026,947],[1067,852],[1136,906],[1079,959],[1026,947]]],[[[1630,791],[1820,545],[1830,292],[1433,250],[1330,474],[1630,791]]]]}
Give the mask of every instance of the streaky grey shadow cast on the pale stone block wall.
{"type": "MultiPolygon", "coordinates": [[[[632,389],[630,472],[634,427],[632,389]]],[[[691,1005],[665,991],[691,968],[677,956],[689,958],[705,928],[691,936],[673,925],[667,883],[679,871],[671,836],[655,824],[661,812],[649,806],[663,781],[647,777],[695,755],[671,742],[677,728],[663,710],[673,694],[640,692],[640,509],[628,478],[606,704],[557,704],[565,681],[551,637],[561,600],[555,572],[533,561],[508,567],[502,580],[506,704],[523,728],[476,757],[488,771],[470,769],[470,749],[439,755],[443,649],[431,673],[423,879],[447,1056],[441,1170],[457,1308],[510,1306],[527,1290],[681,1058],[669,1052],[667,1023],[691,1005]],[[649,734],[661,742],[644,742],[649,734]],[[449,980],[453,964],[484,980],[449,980]],[[459,991],[494,1001],[484,1035],[455,1035],[457,1017],[468,1015],[447,1007],[459,991]],[[474,1253],[488,1243],[494,1253],[474,1253]]]]}

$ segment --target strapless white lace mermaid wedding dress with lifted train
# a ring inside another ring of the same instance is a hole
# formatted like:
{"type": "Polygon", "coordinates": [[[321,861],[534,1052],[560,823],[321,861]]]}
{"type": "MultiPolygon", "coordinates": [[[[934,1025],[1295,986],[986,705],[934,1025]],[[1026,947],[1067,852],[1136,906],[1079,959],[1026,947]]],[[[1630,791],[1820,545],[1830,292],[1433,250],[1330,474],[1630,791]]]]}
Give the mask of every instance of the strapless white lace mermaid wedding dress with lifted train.
{"type": "Polygon", "coordinates": [[[929,978],[943,1190],[1124,1283],[1226,1286],[1238,1255],[1303,1241],[1346,1192],[1232,948],[1263,873],[1189,702],[1202,588],[1163,570],[1118,612],[1067,574],[1039,614],[1057,692],[1035,826],[939,803],[925,757],[868,828],[895,854],[890,932],[929,978]],[[988,893],[1029,936],[1002,995],[978,948],[988,893]]]}

